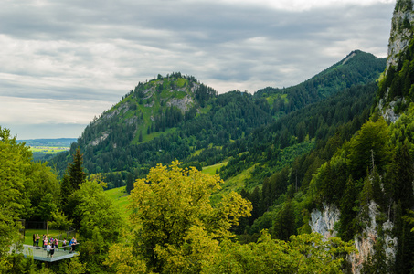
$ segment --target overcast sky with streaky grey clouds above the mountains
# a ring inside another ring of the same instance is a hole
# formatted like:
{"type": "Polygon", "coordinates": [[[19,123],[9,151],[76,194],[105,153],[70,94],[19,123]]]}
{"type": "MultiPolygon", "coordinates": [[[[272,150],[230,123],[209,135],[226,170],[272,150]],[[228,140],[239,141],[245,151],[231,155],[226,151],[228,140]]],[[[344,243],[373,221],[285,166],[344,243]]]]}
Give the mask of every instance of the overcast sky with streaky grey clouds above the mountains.
{"type": "Polygon", "coordinates": [[[287,87],[354,49],[387,57],[395,0],[3,0],[0,126],[79,137],[139,81],[287,87]]]}

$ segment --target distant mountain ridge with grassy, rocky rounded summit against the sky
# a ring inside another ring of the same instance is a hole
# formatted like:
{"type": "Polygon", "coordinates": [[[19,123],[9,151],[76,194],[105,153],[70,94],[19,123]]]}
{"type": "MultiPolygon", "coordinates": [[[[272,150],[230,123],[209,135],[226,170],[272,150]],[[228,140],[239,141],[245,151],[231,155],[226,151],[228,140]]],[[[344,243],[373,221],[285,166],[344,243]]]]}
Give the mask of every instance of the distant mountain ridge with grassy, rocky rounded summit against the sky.
{"type": "MultiPolygon", "coordinates": [[[[143,176],[156,163],[178,159],[201,167],[231,160],[236,156],[231,145],[248,138],[256,129],[277,121],[295,108],[303,108],[308,102],[329,98],[344,87],[374,81],[385,65],[385,59],[355,51],[302,84],[276,93],[259,90],[254,95],[238,90],[218,95],[216,90],[194,77],[181,73],[159,75],[157,79],[138,83],[111,110],[90,122],[69,153],[59,153],[50,162],[62,174],[71,161],[70,154],[79,146],[87,172],[106,174],[113,187],[125,184],[128,174],[133,178],[143,176]],[[365,59],[369,61],[361,61],[365,59]],[[309,94],[314,90],[309,88],[306,95],[307,87],[315,87],[322,81],[324,87],[329,87],[324,90],[329,92],[313,98],[309,94]],[[298,94],[312,100],[296,100],[298,94]],[[276,97],[284,99],[274,104],[276,97]]],[[[311,138],[318,121],[313,123],[311,138]]],[[[290,129],[287,138],[295,134],[295,130],[290,129]]],[[[242,151],[246,150],[249,144],[242,151]]],[[[232,163],[234,161],[229,166],[232,163]]]]}

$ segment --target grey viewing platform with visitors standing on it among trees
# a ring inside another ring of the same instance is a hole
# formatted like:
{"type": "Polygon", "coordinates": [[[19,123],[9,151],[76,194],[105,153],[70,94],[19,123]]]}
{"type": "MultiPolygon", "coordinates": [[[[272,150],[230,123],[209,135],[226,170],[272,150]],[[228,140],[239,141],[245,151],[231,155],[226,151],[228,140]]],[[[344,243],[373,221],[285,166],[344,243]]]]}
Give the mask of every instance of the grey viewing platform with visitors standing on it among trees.
{"type": "Polygon", "coordinates": [[[76,251],[79,249],[79,244],[76,244],[73,246],[73,251],[69,252],[69,246],[62,248],[55,248],[55,252],[53,256],[48,255],[46,248],[41,247],[33,247],[29,245],[23,245],[22,253],[25,255],[25,258],[27,256],[33,256],[33,259],[36,260],[42,260],[42,261],[58,261],[65,258],[72,258],[74,256],[78,255],[78,252],[76,251]],[[66,249],[66,250],[65,250],[66,249]]]}

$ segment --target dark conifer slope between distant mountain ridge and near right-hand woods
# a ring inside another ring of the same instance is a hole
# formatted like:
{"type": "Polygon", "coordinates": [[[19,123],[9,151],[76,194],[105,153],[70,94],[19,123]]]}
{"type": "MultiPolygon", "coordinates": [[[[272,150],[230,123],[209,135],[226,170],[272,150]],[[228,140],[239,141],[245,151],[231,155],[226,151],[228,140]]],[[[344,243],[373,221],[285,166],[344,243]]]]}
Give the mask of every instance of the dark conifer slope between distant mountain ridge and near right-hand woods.
{"type": "Polygon", "coordinates": [[[227,179],[256,164],[256,175],[251,180],[256,182],[251,185],[261,184],[265,177],[309,152],[314,145],[324,147],[336,132],[341,131],[343,138],[349,139],[369,117],[376,91],[376,83],[344,90],[228,144],[222,151],[232,159],[220,170],[220,176],[227,179]]]}

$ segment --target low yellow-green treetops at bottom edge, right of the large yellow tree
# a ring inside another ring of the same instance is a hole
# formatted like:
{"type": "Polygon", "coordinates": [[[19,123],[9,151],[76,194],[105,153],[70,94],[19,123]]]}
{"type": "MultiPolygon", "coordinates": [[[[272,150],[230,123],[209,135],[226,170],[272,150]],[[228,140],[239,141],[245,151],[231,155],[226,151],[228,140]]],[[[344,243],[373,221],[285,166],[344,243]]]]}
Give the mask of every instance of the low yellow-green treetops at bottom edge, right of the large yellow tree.
{"type": "Polygon", "coordinates": [[[318,234],[292,236],[290,242],[272,240],[264,232],[258,243],[223,241],[220,251],[202,273],[340,273],[352,242],[337,237],[325,241],[318,234]]]}

